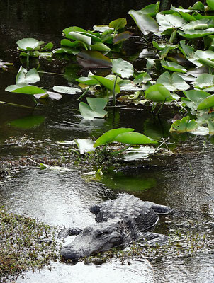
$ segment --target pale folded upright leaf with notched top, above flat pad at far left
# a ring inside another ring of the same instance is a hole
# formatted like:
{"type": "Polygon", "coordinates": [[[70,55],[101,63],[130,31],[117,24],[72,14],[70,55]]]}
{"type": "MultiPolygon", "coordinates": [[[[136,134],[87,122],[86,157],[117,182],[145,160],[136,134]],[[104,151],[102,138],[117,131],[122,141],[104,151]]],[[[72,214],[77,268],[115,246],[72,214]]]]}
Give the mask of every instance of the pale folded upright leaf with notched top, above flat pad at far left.
{"type": "Polygon", "coordinates": [[[27,71],[22,66],[19,68],[16,75],[17,84],[36,83],[37,81],[40,81],[40,76],[35,68],[30,69],[30,71],[27,71]]]}

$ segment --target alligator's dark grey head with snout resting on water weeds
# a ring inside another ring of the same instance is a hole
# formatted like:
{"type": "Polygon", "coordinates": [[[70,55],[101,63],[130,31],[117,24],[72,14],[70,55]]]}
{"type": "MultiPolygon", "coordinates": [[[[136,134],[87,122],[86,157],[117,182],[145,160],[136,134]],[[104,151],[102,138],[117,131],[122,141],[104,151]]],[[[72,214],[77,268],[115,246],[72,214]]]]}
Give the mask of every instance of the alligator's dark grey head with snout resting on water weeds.
{"type": "Polygon", "coordinates": [[[62,247],[60,255],[67,260],[77,260],[94,253],[110,250],[132,240],[127,222],[111,219],[86,227],[72,243],[62,247]]]}

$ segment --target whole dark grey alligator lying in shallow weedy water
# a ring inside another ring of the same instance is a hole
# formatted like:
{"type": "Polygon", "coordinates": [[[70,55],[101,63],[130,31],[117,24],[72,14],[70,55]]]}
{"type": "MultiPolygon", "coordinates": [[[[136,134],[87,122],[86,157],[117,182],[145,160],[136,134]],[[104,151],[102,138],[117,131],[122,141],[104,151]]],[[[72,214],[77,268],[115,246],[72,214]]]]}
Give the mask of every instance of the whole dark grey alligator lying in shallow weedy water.
{"type": "Polygon", "coordinates": [[[59,238],[78,235],[74,241],[62,247],[62,258],[78,260],[132,241],[140,240],[150,246],[168,241],[167,236],[149,231],[154,229],[159,221],[157,214],[168,214],[172,211],[170,207],[145,202],[124,193],[116,200],[93,205],[90,211],[96,214],[96,224],[83,230],[65,229],[59,233],[59,238]]]}

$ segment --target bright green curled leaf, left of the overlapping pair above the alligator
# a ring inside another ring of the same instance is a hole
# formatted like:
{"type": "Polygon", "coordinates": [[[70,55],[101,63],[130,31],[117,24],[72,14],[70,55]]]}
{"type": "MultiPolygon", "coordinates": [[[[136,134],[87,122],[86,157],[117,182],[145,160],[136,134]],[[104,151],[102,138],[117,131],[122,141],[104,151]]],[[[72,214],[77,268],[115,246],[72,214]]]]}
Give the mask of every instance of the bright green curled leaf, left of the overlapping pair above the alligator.
{"type": "Polygon", "coordinates": [[[94,143],[94,147],[101,146],[103,144],[109,144],[118,136],[118,134],[122,134],[123,132],[133,132],[132,128],[118,128],[118,129],[110,129],[108,132],[99,137],[94,143]]]}

